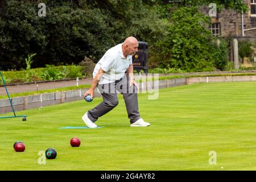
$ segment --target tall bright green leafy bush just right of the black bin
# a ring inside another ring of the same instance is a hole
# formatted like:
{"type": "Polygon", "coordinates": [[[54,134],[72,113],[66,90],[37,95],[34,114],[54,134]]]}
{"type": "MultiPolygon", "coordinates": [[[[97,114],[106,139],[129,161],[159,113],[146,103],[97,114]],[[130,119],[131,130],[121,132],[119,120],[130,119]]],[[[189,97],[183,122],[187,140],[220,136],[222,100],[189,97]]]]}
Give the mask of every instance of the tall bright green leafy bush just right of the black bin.
{"type": "Polygon", "coordinates": [[[151,54],[150,64],[160,68],[180,68],[188,72],[214,71],[209,19],[197,7],[178,7],[172,11],[168,35],[151,54]]]}

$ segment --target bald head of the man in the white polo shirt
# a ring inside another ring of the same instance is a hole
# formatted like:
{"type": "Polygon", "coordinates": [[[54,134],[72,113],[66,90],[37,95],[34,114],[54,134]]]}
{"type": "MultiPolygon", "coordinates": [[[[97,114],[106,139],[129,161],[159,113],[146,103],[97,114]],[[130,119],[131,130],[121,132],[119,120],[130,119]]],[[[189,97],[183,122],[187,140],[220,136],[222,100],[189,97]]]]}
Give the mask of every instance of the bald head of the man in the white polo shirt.
{"type": "Polygon", "coordinates": [[[127,57],[127,55],[135,55],[138,52],[139,43],[136,38],[133,36],[129,36],[125,39],[122,45],[123,56],[127,57]]]}

